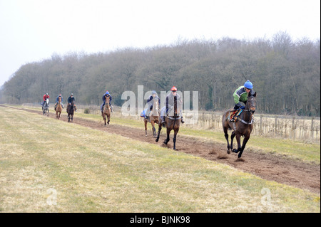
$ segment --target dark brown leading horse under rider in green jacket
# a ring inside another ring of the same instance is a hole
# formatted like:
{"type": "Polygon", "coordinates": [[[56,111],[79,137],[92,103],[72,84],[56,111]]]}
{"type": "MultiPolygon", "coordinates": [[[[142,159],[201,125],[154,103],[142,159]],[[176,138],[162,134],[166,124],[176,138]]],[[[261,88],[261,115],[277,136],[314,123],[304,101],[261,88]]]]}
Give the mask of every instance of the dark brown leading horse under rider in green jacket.
{"type": "Polygon", "coordinates": [[[230,115],[233,110],[228,110],[224,113],[222,118],[223,130],[225,139],[228,142],[228,130],[233,130],[230,135],[230,144],[228,143],[228,154],[230,154],[230,150],[232,152],[238,153],[238,158],[242,156],[245,145],[250,139],[250,134],[253,130],[253,114],[255,112],[256,107],[256,93],[254,95],[248,96],[248,101],[246,102],[245,109],[240,113],[237,120],[235,122],[230,121],[230,115]],[[240,146],[240,137],[243,136],[243,144],[240,146]],[[236,141],[238,142],[238,149],[233,149],[233,139],[236,137],[236,141]]]}

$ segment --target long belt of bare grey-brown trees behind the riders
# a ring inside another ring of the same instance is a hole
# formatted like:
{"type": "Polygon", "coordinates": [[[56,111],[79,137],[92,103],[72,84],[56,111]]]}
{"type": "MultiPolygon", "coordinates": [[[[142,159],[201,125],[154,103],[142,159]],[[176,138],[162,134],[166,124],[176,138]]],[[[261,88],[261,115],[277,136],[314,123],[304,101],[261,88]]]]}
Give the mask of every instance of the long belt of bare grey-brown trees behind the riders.
{"type": "Polygon", "coordinates": [[[178,41],[170,46],[127,48],[108,53],[54,54],[27,63],[4,84],[6,102],[41,102],[44,93],[101,104],[108,90],[122,105],[126,90],[197,90],[203,110],[233,107],[233,92],[246,80],[257,91],[258,111],[320,116],[320,40],[292,41],[279,32],[271,40],[221,38],[178,41]]]}

